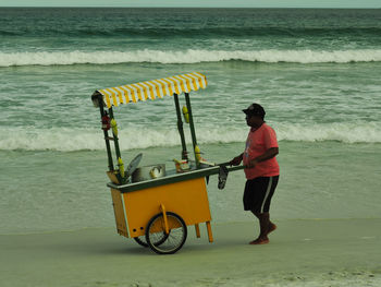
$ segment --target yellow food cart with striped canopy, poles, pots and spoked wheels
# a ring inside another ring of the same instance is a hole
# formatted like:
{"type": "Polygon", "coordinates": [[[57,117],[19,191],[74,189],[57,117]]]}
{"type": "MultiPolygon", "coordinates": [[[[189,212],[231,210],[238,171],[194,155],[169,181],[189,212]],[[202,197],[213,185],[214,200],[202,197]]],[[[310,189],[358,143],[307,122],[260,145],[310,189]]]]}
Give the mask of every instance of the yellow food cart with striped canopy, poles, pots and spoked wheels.
{"type": "Polygon", "coordinates": [[[134,238],[159,254],[172,254],[185,243],[187,226],[195,226],[200,237],[199,224],[205,223],[209,242],[213,241],[207,180],[219,175],[223,188],[228,172],[243,167],[214,165],[201,157],[192,115],[189,92],[206,88],[207,79],[201,73],[188,73],[153,81],[98,89],[91,100],[99,108],[108,155],[112,204],[118,234],[134,238]],[[185,106],[180,107],[184,94],[185,106]],[[113,107],[172,96],[180,133],[182,158],[175,160],[173,170],[165,167],[138,167],[142,154],[125,168],[119,147],[118,124],[113,107]],[[184,135],[184,122],[189,125],[194,158],[189,158],[184,135]],[[111,148],[111,145],[114,145],[111,148]],[[116,164],[114,165],[113,155],[116,164]],[[140,175],[147,169],[146,175],[140,175]]]}

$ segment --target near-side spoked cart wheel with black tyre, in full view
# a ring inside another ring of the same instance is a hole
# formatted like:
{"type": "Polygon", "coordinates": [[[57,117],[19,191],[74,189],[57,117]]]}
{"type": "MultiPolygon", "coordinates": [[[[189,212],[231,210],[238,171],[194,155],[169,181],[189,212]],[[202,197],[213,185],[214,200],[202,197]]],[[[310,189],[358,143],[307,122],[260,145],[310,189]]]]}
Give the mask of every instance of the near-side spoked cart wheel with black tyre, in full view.
{"type": "Polygon", "coordinates": [[[185,243],[187,229],[186,225],[177,214],[167,212],[167,220],[170,232],[163,242],[156,244],[155,242],[163,239],[165,234],[165,225],[162,213],[155,215],[148,223],[146,229],[146,240],[150,249],[158,254],[173,254],[177,252],[185,243]]]}

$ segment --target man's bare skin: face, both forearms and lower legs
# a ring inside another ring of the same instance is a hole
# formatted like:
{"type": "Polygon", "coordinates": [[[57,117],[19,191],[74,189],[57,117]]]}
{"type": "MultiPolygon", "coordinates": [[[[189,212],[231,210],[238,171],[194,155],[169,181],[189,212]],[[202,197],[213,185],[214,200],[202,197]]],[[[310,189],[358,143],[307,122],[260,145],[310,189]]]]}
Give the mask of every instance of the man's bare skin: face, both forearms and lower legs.
{"type": "MultiPolygon", "coordinates": [[[[246,123],[248,127],[254,128],[254,129],[259,129],[265,120],[261,117],[258,116],[247,116],[246,115],[246,123]]],[[[270,158],[273,158],[279,154],[279,148],[278,147],[271,147],[267,150],[263,154],[260,156],[254,158],[250,160],[247,165],[246,168],[255,168],[258,163],[268,160],[270,158]]],[[[234,157],[230,164],[233,166],[237,166],[242,163],[244,154],[242,153],[241,155],[234,157]]],[[[250,244],[266,244],[269,243],[269,238],[268,234],[276,229],[276,225],[274,225],[270,220],[270,214],[269,213],[257,213],[251,211],[251,213],[259,219],[259,226],[260,226],[260,234],[256,240],[253,240],[250,244]]]]}

